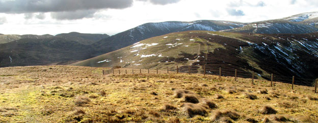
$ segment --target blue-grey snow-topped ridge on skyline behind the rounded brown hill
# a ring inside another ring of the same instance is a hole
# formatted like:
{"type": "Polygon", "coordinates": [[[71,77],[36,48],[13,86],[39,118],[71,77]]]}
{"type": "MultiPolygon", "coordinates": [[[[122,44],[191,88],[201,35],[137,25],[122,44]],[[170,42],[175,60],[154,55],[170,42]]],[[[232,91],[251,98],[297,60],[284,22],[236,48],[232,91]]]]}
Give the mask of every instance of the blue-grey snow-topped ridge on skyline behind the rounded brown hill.
{"type": "Polygon", "coordinates": [[[95,55],[111,52],[144,39],[164,34],[183,32],[186,30],[218,31],[244,26],[245,23],[231,21],[197,20],[191,22],[168,21],[159,23],[145,23],[125,32],[116,34],[93,44],[95,55]]]}

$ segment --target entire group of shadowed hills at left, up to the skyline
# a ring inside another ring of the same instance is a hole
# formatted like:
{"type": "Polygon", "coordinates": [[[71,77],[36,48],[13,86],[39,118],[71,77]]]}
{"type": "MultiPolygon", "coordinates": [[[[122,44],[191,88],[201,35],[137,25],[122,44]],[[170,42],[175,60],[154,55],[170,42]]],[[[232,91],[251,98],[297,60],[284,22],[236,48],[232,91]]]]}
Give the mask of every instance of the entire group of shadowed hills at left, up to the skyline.
{"type": "Polygon", "coordinates": [[[66,65],[91,58],[89,44],[106,34],[68,33],[51,35],[0,35],[0,67],[66,65]]]}

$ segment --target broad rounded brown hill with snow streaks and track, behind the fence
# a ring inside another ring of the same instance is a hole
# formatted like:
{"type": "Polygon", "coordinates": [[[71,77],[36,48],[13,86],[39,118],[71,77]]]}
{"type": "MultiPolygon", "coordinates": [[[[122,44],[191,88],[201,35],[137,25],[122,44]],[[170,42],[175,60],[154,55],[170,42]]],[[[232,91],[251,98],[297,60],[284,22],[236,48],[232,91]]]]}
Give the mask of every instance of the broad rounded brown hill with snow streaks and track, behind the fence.
{"type": "MultiPolygon", "coordinates": [[[[171,33],[80,61],[91,67],[166,68],[206,65],[315,79],[318,74],[318,33],[259,35],[208,31],[171,33]]],[[[299,83],[310,85],[311,83],[299,83]]]]}

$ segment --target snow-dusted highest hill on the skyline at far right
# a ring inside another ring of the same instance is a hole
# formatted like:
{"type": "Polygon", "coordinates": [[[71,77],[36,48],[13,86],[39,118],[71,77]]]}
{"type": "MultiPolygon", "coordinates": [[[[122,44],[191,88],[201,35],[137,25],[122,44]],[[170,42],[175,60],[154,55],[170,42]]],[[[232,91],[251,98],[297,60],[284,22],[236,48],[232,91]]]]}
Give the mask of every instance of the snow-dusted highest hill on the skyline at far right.
{"type": "Polygon", "coordinates": [[[225,32],[255,34],[307,34],[318,32],[318,12],[302,13],[286,18],[252,22],[225,32]]]}

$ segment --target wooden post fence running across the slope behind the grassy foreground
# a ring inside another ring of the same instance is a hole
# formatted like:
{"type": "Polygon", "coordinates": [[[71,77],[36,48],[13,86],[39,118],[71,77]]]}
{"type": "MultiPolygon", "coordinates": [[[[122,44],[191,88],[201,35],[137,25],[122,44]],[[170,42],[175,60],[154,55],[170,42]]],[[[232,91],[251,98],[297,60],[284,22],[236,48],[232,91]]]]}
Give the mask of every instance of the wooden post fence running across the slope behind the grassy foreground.
{"type": "Polygon", "coordinates": [[[226,68],[215,68],[215,67],[206,67],[206,66],[176,66],[176,67],[166,67],[162,69],[137,69],[137,68],[112,68],[110,70],[102,70],[103,75],[107,74],[169,74],[169,73],[186,73],[186,74],[203,74],[205,75],[218,75],[219,78],[222,76],[232,76],[234,77],[235,81],[237,78],[251,78],[251,82],[254,83],[254,79],[257,79],[258,77],[268,78],[271,80],[271,86],[273,86],[273,82],[284,82],[292,84],[292,89],[294,89],[294,84],[297,83],[297,85],[305,85],[305,86],[312,86],[311,84],[314,82],[315,85],[315,93],[317,92],[318,87],[318,81],[312,80],[312,79],[305,79],[305,78],[298,78],[295,76],[288,77],[288,76],[278,76],[271,74],[270,77],[267,76],[261,76],[260,74],[257,74],[253,71],[249,73],[248,71],[243,70],[237,70],[237,69],[226,69],[226,68]],[[115,70],[116,69],[116,70],[115,70]],[[121,70],[124,69],[124,70],[121,70]],[[203,69],[203,70],[202,70],[203,69]],[[201,71],[200,71],[201,70],[201,71]]]}

